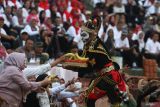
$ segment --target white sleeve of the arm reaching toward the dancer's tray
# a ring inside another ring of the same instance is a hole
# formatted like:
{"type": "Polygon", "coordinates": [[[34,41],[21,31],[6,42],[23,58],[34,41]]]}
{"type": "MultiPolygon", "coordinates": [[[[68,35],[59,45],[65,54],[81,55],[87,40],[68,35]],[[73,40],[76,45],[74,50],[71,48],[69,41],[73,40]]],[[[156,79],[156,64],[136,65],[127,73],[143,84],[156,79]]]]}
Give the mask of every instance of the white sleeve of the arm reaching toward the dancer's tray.
{"type": "Polygon", "coordinates": [[[51,70],[51,65],[44,64],[36,67],[27,67],[23,70],[23,74],[25,77],[33,76],[33,75],[41,75],[51,70]]]}

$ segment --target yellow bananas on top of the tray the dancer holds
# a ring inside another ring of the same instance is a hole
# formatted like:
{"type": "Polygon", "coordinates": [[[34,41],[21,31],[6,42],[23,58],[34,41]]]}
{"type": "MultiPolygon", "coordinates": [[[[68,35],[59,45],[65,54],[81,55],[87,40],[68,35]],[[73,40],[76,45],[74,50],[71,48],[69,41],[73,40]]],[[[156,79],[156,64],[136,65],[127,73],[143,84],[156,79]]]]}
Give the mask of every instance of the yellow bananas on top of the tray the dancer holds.
{"type": "Polygon", "coordinates": [[[88,61],[88,58],[85,58],[85,57],[80,57],[77,53],[74,54],[74,53],[67,53],[65,54],[66,57],[68,57],[68,59],[70,60],[81,60],[81,61],[88,61]]]}

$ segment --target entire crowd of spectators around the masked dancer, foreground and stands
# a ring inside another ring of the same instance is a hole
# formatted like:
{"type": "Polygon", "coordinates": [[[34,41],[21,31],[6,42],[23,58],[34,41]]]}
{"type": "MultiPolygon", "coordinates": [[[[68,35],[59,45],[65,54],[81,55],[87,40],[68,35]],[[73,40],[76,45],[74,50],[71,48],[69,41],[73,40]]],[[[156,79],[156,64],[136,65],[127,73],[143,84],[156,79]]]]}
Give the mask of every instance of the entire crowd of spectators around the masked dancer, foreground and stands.
{"type": "MultiPolygon", "coordinates": [[[[55,77],[54,84],[49,86],[51,80],[46,79],[46,73],[64,60],[64,53],[81,53],[84,48],[81,26],[91,16],[101,17],[98,36],[111,56],[123,58],[123,65],[143,67],[144,59],[154,59],[160,66],[160,0],[88,2],[93,10],[88,10],[85,0],[0,0],[0,64],[16,66],[8,67],[6,73],[3,71],[0,75],[0,88],[7,85],[10,86],[7,90],[10,90],[14,87],[12,92],[7,93],[12,98],[6,96],[5,88],[0,90],[0,103],[1,100],[7,101],[2,103],[3,107],[6,103],[11,107],[22,105],[22,99],[26,102],[23,104],[25,107],[50,107],[50,103],[54,107],[55,102],[64,107],[76,106],[76,97],[83,93],[79,90],[82,87],[79,79],[65,83],[65,80],[55,77]],[[49,59],[56,60],[36,69],[28,69],[25,68],[24,54],[20,53],[25,53],[29,63],[44,64],[49,59]],[[11,72],[13,70],[15,72],[11,72]],[[23,90],[17,92],[20,87],[23,90]],[[27,95],[28,91],[31,93],[27,95]]],[[[133,84],[129,80],[126,82],[131,88],[133,84]]],[[[146,86],[139,88],[139,96],[130,95],[133,99],[131,107],[140,107],[142,97],[142,102],[146,103],[159,101],[159,81],[155,84],[145,80],[142,85],[146,86]]]]}

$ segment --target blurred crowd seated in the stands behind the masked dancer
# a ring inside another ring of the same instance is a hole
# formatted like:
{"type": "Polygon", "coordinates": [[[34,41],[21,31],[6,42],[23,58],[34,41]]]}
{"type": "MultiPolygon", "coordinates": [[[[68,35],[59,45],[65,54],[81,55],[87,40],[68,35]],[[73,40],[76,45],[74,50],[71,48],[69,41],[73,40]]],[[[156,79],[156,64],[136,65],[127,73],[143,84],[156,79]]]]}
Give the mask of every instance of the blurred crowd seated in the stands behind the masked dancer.
{"type": "MultiPolygon", "coordinates": [[[[25,53],[30,63],[45,63],[80,52],[81,26],[91,16],[101,17],[98,36],[111,56],[123,59],[123,66],[143,67],[145,59],[160,66],[160,0],[0,0],[0,58],[16,51],[25,53]]],[[[155,90],[149,92],[159,92],[155,90]]],[[[149,92],[140,98],[149,102],[149,92]]]]}

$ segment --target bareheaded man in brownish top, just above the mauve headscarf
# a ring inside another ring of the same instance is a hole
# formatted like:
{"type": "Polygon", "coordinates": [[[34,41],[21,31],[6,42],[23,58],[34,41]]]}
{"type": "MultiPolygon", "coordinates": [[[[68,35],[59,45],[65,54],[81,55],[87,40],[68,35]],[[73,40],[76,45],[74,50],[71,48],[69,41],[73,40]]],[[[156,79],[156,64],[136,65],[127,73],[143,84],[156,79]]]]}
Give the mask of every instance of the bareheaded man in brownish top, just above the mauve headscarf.
{"type": "Polygon", "coordinates": [[[32,39],[27,39],[24,46],[16,49],[16,52],[25,53],[28,61],[35,57],[35,52],[33,50],[34,42],[32,39]]]}

